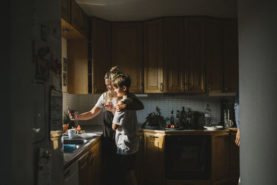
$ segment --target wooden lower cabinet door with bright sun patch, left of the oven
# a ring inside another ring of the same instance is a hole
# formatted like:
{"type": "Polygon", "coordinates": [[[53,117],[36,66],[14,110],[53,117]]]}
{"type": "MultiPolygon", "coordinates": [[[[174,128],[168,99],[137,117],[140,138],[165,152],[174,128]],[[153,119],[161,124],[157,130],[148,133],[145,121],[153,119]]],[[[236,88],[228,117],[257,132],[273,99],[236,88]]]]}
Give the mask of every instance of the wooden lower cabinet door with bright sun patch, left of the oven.
{"type": "Polygon", "coordinates": [[[162,134],[144,134],[144,177],[146,184],[165,183],[165,139],[162,134]]]}

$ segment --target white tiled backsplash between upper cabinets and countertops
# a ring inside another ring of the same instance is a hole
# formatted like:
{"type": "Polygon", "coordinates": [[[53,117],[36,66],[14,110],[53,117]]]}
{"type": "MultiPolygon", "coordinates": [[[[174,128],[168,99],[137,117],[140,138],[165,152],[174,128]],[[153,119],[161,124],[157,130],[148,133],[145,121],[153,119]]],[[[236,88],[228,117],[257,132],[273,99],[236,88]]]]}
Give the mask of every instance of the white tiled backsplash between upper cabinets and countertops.
{"type": "MultiPolygon", "coordinates": [[[[66,106],[80,113],[90,111],[100,94],[63,94],[63,110],[67,112],[66,106]]],[[[232,97],[233,98],[233,97],[232,97]]],[[[232,99],[231,98],[231,99],[232,99]]],[[[158,106],[161,109],[161,115],[170,116],[171,109],[176,114],[177,109],[181,111],[190,108],[192,111],[204,112],[206,105],[211,107],[211,123],[220,122],[220,97],[200,95],[167,95],[167,94],[148,94],[147,97],[139,97],[144,105],[144,109],[137,111],[139,124],[145,121],[145,117],[156,110],[158,106]]],[[[105,111],[105,110],[104,110],[105,111]]],[[[98,116],[89,121],[80,121],[81,125],[102,125],[103,111],[98,116]]]]}

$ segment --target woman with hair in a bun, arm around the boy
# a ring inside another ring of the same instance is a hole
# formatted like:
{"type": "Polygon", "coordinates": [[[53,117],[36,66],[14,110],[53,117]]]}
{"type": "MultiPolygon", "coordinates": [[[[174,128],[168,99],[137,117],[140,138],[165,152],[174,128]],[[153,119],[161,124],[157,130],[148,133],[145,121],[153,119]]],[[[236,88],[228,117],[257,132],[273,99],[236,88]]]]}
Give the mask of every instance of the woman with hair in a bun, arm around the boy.
{"type": "MultiPolygon", "coordinates": [[[[75,114],[71,115],[69,112],[69,116],[73,120],[89,120],[94,116],[98,115],[102,108],[105,107],[106,111],[104,112],[104,128],[103,128],[103,135],[102,135],[102,148],[104,152],[104,162],[105,162],[105,173],[107,175],[114,174],[113,172],[116,170],[116,166],[114,164],[115,157],[116,157],[116,142],[115,142],[115,132],[111,128],[111,124],[114,118],[113,112],[120,111],[120,109],[134,109],[139,110],[143,109],[143,103],[132,94],[129,98],[132,98],[132,104],[122,104],[116,105],[116,93],[114,93],[114,88],[111,85],[111,80],[116,75],[120,74],[118,67],[112,67],[109,72],[105,74],[105,84],[107,86],[107,91],[105,91],[100,98],[96,105],[91,109],[89,112],[84,112],[83,114],[75,114]]],[[[115,177],[116,178],[116,177],[115,177]]],[[[107,180],[107,184],[114,184],[113,177],[105,178],[107,180]]]]}

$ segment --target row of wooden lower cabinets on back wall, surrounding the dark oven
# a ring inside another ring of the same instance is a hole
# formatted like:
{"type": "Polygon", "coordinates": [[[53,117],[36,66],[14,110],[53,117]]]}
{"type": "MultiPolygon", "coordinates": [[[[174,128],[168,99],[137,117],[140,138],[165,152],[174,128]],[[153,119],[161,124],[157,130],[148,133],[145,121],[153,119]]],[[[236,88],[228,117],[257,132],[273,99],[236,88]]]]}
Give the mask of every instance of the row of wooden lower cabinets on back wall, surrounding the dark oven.
{"type": "MultiPolygon", "coordinates": [[[[229,132],[211,133],[211,179],[166,179],[166,134],[144,132],[144,184],[217,185],[229,184],[229,132]]],[[[206,134],[206,133],[204,133],[206,134]]],[[[190,134],[191,135],[191,134],[190,134]]],[[[141,154],[140,154],[141,155],[141,154]]],[[[141,159],[141,158],[140,158],[141,159]]],[[[230,177],[231,178],[231,177],[230,177]]]]}

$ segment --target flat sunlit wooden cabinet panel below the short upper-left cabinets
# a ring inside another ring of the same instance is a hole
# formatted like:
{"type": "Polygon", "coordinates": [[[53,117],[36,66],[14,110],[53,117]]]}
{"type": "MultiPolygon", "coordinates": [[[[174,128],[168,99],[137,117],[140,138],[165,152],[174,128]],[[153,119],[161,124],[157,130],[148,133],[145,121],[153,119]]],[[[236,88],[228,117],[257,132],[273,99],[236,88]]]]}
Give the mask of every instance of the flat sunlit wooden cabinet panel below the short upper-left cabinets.
{"type": "Polygon", "coordinates": [[[67,90],[88,94],[87,39],[67,41],[67,90]]]}

